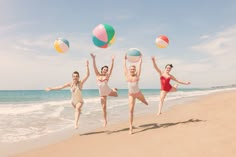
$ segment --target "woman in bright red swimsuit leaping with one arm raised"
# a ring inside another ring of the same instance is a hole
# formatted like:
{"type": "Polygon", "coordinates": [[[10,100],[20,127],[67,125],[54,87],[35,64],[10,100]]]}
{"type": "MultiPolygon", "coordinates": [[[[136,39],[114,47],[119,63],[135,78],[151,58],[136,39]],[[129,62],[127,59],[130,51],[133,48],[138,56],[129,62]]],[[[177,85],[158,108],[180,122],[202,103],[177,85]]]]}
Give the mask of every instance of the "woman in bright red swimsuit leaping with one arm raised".
{"type": "Polygon", "coordinates": [[[178,84],[174,85],[174,86],[171,86],[170,80],[174,80],[177,83],[185,84],[185,85],[189,85],[190,82],[183,82],[183,81],[177,80],[173,75],[171,75],[170,71],[173,68],[172,64],[167,64],[165,66],[165,70],[161,71],[159,69],[159,67],[157,66],[157,64],[156,64],[155,57],[152,57],[152,63],[153,63],[154,68],[156,69],[156,71],[160,75],[161,91],[160,91],[159,110],[157,112],[157,115],[160,115],[161,114],[161,109],[162,109],[162,106],[163,106],[163,103],[164,103],[164,99],[165,99],[167,93],[177,91],[178,84]]]}

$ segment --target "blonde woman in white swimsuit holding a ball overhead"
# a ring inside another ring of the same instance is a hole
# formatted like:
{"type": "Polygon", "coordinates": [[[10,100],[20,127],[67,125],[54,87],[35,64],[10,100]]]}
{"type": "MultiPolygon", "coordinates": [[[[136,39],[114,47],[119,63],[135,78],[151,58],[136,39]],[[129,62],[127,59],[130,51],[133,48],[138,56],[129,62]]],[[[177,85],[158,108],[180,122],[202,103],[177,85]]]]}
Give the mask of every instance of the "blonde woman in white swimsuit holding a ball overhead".
{"type": "Polygon", "coordinates": [[[139,77],[141,74],[141,65],[142,65],[142,58],[139,62],[139,69],[136,71],[136,66],[131,65],[129,70],[126,66],[127,56],[124,59],[124,73],[126,77],[126,81],[128,82],[128,95],[129,95],[129,119],[130,119],[130,126],[129,126],[129,134],[133,133],[133,115],[134,115],[134,106],[136,98],[140,100],[145,105],[148,105],[145,97],[143,96],[142,92],[139,89],[139,77]]]}

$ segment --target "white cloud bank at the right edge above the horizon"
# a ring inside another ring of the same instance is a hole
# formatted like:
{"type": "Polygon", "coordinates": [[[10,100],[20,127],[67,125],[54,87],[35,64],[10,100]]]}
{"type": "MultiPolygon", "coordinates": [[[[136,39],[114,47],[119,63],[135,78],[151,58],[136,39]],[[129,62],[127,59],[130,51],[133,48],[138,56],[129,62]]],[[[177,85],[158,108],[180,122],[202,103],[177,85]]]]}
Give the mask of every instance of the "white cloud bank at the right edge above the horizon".
{"type": "Polygon", "coordinates": [[[195,52],[205,54],[207,58],[199,65],[190,64],[190,69],[197,70],[202,78],[197,79],[199,84],[227,85],[234,84],[236,81],[236,26],[212,34],[207,40],[195,45],[192,49],[195,52]],[[195,67],[195,68],[194,68],[195,67]]]}

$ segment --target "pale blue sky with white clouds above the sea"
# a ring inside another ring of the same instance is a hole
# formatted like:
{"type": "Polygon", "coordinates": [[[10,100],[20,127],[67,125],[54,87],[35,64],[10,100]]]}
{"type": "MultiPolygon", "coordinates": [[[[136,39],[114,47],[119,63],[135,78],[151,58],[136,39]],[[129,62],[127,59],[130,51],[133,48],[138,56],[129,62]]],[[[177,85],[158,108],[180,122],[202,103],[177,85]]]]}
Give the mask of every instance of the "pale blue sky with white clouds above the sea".
{"type": "Polygon", "coordinates": [[[161,69],[172,63],[171,73],[192,83],[180,87],[235,84],[235,15],[234,0],[0,0],[0,90],[64,84],[75,70],[85,74],[87,59],[91,76],[84,88],[97,88],[91,52],[99,68],[115,56],[109,84],[126,88],[122,65],[129,48],[143,53],[140,88],[160,88],[151,56],[161,69]],[[107,49],[92,43],[92,30],[100,23],[116,31],[116,41],[107,49]],[[170,40],[165,49],[155,45],[162,34],[170,40]],[[53,48],[58,37],[70,42],[65,54],[53,48]]]}

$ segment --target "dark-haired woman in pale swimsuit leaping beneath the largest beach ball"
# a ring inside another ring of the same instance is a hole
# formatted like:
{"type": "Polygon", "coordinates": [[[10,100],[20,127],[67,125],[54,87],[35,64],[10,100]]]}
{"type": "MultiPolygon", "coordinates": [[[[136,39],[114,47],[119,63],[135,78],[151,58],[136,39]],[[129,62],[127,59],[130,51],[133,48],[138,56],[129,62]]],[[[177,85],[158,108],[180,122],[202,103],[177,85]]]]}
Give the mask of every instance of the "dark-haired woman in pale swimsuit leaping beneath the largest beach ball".
{"type": "Polygon", "coordinates": [[[104,118],[104,127],[107,125],[107,96],[118,96],[117,94],[117,89],[111,89],[108,86],[108,81],[111,76],[113,66],[114,66],[114,57],[112,57],[112,63],[111,63],[111,68],[108,71],[108,66],[103,66],[101,68],[101,72],[98,71],[97,65],[96,65],[96,60],[95,60],[95,55],[90,54],[92,59],[93,59],[93,68],[95,71],[95,75],[97,78],[97,84],[98,84],[98,89],[99,89],[99,94],[100,94],[100,101],[102,105],[102,110],[103,110],[103,118],[104,118]]]}

